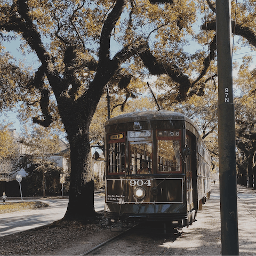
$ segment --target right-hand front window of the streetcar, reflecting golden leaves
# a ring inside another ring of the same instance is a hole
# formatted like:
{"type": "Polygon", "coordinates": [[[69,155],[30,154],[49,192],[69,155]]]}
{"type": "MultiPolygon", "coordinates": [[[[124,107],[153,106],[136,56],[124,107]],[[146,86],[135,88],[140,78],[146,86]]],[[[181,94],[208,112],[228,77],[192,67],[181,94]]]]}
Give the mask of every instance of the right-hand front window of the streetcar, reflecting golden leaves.
{"type": "Polygon", "coordinates": [[[157,141],[158,172],[180,172],[180,140],[157,141]]]}

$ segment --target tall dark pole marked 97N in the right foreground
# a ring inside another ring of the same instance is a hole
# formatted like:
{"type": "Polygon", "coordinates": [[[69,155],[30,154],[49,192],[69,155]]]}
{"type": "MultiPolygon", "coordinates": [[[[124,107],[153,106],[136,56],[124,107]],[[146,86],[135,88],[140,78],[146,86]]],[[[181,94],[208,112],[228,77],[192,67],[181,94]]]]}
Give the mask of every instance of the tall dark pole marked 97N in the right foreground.
{"type": "Polygon", "coordinates": [[[239,255],[230,10],[230,0],[216,1],[222,256],[239,255]]]}

